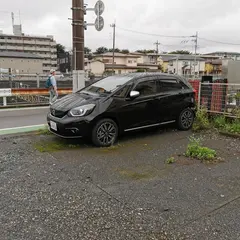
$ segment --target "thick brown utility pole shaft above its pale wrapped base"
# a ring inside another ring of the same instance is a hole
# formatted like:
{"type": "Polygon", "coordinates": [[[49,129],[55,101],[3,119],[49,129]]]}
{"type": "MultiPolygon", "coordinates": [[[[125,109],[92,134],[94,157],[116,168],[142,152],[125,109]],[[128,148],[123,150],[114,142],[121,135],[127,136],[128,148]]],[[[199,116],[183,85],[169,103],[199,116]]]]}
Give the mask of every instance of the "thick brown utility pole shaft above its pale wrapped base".
{"type": "Polygon", "coordinates": [[[72,0],[72,31],[75,70],[84,70],[84,3],[72,0]]]}

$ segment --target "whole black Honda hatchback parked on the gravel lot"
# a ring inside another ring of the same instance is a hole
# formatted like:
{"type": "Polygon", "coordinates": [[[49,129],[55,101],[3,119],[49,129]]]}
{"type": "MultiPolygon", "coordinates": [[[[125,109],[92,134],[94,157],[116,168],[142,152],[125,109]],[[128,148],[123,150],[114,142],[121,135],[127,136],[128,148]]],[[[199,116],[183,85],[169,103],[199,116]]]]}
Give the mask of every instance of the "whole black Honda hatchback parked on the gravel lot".
{"type": "Polygon", "coordinates": [[[90,137],[107,147],[121,133],[169,123],[189,130],[195,117],[191,85],[180,76],[130,73],[106,77],[56,101],[49,130],[64,138],[90,137]]]}

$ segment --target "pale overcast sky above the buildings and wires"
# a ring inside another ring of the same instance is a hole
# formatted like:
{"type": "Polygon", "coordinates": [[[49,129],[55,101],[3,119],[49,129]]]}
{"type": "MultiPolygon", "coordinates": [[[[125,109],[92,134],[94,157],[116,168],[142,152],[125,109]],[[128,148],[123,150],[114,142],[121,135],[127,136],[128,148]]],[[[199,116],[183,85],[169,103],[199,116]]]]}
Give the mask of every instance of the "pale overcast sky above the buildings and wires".
{"type": "MultiPolygon", "coordinates": [[[[198,52],[240,52],[240,1],[239,0],[103,0],[105,27],[101,32],[94,27],[85,31],[85,45],[91,49],[112,47],[112,28],[116,21],[116,47],[153,49],[161,43],[160,51],[193,51],[191,38],[167,38],[160,35],[191,36],[199,32],[198,52]],[[125,30],[124,30],[125,29],[125,30]],[[136,32],[148,33],[140,34],[136,32]],[[154,36],[155,35],[155,36],[154,36]],[[157,36],[159,35],[159,36],[157,36]],[[201,38],[219,42],[206,41],[201,38]],[[187,43],[181,43],[183,40],[187,43]],[[237,45],[239,44],[239,45],[237,45]]],[[[85,0],[93,7],[96,0],[85,0]]],[[[71,0],[1,0],[0,29],[12,33],[11,12],[19,23],[19,10],[25,34],[54,35],[56,41],[71,48],[71,0]]],[[[94,12],[86,20],[95,21],[94,12]]]]}

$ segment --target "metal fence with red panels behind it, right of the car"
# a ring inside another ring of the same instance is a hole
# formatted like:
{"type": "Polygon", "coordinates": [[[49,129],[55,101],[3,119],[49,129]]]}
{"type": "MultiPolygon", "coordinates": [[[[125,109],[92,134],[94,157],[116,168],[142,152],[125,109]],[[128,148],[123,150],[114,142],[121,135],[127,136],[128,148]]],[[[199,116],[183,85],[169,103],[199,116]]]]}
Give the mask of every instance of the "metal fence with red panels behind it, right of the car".
{"type": "Polygon", "coordinates": [[[202,83],[190,81],[196,90],[196,101],[199,108],[208,112],[240,117],[240,84],[224,82],[202,83]]]}

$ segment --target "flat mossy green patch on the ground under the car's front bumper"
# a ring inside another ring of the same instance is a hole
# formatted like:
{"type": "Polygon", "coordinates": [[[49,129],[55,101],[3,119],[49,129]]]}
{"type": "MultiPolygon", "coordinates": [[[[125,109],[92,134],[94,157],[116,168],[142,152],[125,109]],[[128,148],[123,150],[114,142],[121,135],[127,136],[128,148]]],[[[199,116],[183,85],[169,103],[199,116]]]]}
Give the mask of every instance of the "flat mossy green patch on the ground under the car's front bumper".
{"type": "Polygon", "coordinates": [[[47,142],[39,142],[34,144],[34,148],[39,152],[56,152],[61,150],[68,150],[68,149],[76,149],[79,148],[80,145],[78,144],[66,144],[64,142],[58,141],[47,141],[47,142]]]}

